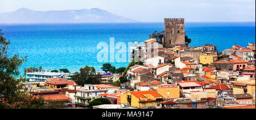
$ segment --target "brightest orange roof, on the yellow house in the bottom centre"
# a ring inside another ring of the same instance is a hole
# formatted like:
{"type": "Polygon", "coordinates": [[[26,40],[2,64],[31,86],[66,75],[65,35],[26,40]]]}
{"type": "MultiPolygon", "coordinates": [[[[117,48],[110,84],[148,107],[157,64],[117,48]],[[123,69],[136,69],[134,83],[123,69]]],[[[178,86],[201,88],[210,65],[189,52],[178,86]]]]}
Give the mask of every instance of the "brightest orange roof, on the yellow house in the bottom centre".
{"type": "Polygon", "coordinates": [[[154,90],[149,90],[149,91],[137,91],[137,92],[130,92],[133,94],[135,97],[139,98],[146,98],[144,95],[145,94],[151,94],[151,96],[155,98],[163,97],[159,93],[155,92],[154,90]]]}

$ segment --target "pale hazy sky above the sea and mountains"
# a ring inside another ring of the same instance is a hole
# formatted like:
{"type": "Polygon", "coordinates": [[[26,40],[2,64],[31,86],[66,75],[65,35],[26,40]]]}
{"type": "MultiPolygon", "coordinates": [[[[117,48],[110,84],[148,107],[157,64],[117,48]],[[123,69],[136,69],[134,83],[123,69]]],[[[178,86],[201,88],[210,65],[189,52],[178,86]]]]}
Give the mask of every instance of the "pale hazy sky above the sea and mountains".
{"type": "Polygon", "coordinates": [[[0,0],[0,13],[99,8],[142,22],[255,22],[255,0],[0,0]]]}

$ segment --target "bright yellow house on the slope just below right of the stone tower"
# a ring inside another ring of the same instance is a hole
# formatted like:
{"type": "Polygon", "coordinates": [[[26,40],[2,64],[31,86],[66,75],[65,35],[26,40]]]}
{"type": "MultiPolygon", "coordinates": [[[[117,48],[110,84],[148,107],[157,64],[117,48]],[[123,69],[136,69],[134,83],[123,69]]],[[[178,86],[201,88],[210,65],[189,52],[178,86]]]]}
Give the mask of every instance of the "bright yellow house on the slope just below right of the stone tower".
{"type": "Polygon", "coordinates": [[[200,55],[200,64],[211,64],[218,60],[217,55],[212,55],[212,52],[206,52],[204,55],[200,55]]]}

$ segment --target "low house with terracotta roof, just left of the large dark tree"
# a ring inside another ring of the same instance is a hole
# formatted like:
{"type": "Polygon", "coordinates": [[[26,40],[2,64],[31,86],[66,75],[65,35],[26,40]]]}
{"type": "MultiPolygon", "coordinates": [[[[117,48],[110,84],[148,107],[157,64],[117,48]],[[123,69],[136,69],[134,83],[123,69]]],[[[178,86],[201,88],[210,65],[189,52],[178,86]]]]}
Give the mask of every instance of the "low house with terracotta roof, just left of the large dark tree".
{"type": "Polygon", "coordinates": [[[65,78],[48,78],[46,80],[46,86],[55,90],[61,90],[61,88],[66,88],[69,85],[77,86],[75,81],[67,80],[65,78]]]}

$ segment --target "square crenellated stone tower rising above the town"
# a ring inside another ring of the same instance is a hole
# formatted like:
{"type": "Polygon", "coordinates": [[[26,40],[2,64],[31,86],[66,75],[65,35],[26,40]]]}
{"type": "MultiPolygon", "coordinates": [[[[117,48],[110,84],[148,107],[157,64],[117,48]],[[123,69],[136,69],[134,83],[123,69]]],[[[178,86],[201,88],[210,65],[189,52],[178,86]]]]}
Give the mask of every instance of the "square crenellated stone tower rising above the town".
{"type": "Polygon", "coordinates": [[[164,18],[164,40],[167,48],[185,47],[184,18],[164,18]]]}

